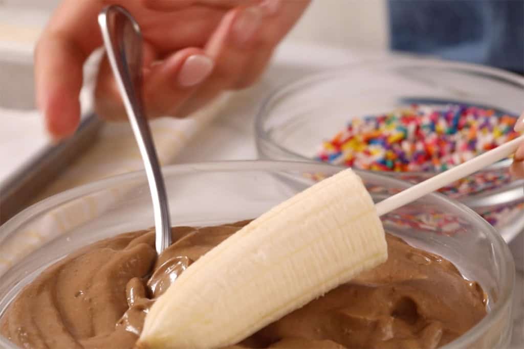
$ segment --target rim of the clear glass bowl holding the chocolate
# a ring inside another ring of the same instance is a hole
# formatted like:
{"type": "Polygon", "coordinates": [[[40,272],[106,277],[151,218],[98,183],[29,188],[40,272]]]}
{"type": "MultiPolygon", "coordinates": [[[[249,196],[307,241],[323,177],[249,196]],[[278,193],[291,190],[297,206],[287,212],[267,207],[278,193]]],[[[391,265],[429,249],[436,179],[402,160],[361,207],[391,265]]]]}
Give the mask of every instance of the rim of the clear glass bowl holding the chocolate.
{"type": "MultiPolygon", "coordinates": [[[[270,161],[270,160],[233,160],[233,161],[211,161],[211,162],[197,162],[197,163],[185,163],[175,164],[162,167],[162,173],[164,176],[176,175],[188,172],[286,172],[286,171],[297,171],[297,172],[311,172],[315,170],[321,171],[322,169],[328,169],[331,171],[339,172],[344,170],[340,166],[335,166],[320,162],[303,162],[303,161],[270,161]]],[[[397,185],[402,188],[411,186],[410,183],[401,181],[397,178],[385,176],[376,172],[354,170],[359,176],[363,175],[368,178],[375,178],[376,180],[382,181],[382,183],[397,185]]],[[[74,187],[64,192],[50,196],[49,198],[43,199],[34,205],[29,206],[23,211],[17,213],[14,217],[9,219],[7,222],[0,226],[0,244],[9,235],[9,233],[15,231],[20,224],[24,223],[31,217],[34,217],[52,207],[55,207],[65,201],[84,196],[88,193],[96,190],[101,190],[108,186],[115,184],[124,183],[131,180],[142,180],[146,183],[146,174],[144,170],[133,171],[124,174],[118,174],[110,176],[99,181],[95,181],[89,184],[84,184],[78,187],[74,187]]],[[[479,216],[475,211],[461,204],[460,202],[447,198],[445,195],[440,193],[431,193],[427,196],[438,200],[443,206],[453,207],[457,212],[460,212],[465,218],[470,220],[472,223],[481,224],[485,227],[484,231],[486,236],[490,239],[490,242],[495,244],[495,249],[501,251],[503,254],[501,257],[501,279],[506,281],[500,294],[497,297],[497,302],[491,311],[479,321],[473,328],[468,330],[462,336],[456,340],[442,346],[442,349],[453,349],[460,348],[461,345],[465,345],[470,342],[474,342],[481,336],[491,325],[499,319],[501,313],[510,306],[512,301],[512,293],[514,291],[515,284],[515,263],[509,247],[504,242],[500,234],[497,233],[486,220],[479,216]]],[[[0,335],[0,344],[5,342],[5,337],[0,335]]],[[[7,341],[7,343],[10,343],[7,341]]],[[[14,346],[13,348],[17,348],[14,346]]]]}

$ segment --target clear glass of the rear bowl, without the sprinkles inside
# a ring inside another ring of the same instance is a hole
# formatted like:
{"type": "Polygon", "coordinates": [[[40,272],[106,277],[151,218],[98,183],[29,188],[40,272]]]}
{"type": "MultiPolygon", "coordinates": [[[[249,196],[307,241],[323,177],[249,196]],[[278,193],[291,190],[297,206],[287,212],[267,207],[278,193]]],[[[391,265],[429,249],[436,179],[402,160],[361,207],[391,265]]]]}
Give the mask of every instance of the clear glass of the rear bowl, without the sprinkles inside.
{"type": "MultiPolygon", "coordinates": [[[[284,86],[261,106],[255,121],[261,159],[314,160],[354,117],[383,114],[412,104],[460,104],[518,116],[524,78],[485,66],[422,58],[354,64],[284,86]]],[[[469,188],[445,194],[478,210],[524,201],[524,181],[512,181],[510,159],[461,181],[469,188]]],[[[436,172],[383,172],[418,183],[436,172]]],[[[523,226],[524,227],[524,226],[523,226]]]]}

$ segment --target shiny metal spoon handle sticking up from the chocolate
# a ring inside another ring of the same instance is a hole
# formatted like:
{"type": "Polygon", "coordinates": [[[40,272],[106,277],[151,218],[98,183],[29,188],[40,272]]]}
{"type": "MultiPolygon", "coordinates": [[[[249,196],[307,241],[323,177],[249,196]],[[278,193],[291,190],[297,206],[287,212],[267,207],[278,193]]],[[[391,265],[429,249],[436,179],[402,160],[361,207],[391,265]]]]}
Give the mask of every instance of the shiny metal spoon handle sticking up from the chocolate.
{"type": "Polygon", "coordinates": [[[171,223],[166,186],[142,101],[142,35],[133,16],[120,6],[105,7],[98,20],[107,57],[144,161],[155,215],[155,247],[160,254],[171,244],[171,223]]]}

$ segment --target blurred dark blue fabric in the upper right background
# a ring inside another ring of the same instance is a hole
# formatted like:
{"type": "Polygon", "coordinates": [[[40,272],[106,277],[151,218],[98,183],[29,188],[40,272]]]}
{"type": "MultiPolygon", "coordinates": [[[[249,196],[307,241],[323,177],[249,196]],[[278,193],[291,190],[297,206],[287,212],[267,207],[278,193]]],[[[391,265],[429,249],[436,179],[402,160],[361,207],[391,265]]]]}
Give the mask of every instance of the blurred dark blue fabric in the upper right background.
{"type": "Polygon", "coordinates": [[[388,0],[393,50],[524,73],[524,0],[388,0]]]}

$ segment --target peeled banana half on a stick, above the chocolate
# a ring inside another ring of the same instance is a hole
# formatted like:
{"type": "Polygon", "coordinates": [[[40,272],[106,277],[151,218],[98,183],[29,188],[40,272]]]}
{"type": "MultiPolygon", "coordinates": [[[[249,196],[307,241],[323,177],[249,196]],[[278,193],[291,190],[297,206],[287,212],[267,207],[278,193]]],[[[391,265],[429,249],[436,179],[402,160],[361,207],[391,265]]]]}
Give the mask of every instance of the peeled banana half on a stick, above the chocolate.
{"type": "Polygon", "coordinates": [[[139,345],[238,343],[387,260],[361,178],[344,170],[253,220],[193,263],[146,316],[139,345]]]}

